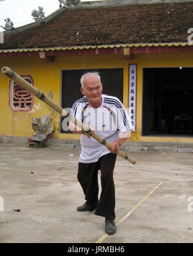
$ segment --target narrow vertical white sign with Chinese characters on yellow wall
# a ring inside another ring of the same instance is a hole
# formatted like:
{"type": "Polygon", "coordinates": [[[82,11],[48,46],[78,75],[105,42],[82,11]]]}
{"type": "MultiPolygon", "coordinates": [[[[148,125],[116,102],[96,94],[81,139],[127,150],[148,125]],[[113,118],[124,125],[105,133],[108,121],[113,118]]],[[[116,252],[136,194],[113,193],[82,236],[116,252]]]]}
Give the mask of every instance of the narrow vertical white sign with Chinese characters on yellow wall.
{"type": "Polygon", "coordinates": [[[129,65],[129,116],[136,131],[137,65],[129,65]]]}

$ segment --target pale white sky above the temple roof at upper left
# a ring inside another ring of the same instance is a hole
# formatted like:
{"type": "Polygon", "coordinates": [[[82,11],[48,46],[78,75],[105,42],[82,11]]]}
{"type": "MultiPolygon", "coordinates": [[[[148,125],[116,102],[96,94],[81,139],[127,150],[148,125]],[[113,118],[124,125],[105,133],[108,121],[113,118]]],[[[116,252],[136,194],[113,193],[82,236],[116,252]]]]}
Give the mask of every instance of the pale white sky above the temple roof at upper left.
{"type": "MultiPolygon", "coordinates": [[[[81,2],[95,0],[81,0],[81,2]]],[[[34,22],[32,10],[38,10],[38,6],[44,8],[45,16],[59,9],[59,0],[0,0],[0,26],[5,27],[5,19],[8,17],[14,23],[14,27],[21,27],[34,22]]],[[[0,27],[0,32],[5,31],[0,27]]]]}

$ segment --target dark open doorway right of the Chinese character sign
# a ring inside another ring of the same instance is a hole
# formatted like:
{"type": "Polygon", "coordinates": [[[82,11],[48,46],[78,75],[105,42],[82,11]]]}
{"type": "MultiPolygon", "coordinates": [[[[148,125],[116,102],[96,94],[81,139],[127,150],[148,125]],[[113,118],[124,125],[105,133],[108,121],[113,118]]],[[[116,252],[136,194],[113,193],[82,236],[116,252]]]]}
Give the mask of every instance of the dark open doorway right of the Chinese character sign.
{"type": "Polygon", "coordinates": [[[191,135],[193,68],[143,69],[142,135],[191,135]]]}

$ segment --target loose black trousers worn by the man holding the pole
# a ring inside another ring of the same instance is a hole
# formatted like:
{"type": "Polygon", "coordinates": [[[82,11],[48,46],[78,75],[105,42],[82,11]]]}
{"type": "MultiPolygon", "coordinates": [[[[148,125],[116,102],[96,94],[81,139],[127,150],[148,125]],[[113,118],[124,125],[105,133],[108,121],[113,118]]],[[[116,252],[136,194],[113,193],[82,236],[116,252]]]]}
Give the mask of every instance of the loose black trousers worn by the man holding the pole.
{"type": "Polygon", "coordinates": [[[84,191],[87,208],[96,209],[95,214],[115,220],[115,184],[113,171],[116,154],[109,153],[101,156],[97,162],[91,164],[78,164],[78,181],[84,191]],[[101,172],[100,180],[102,191],[98,201],[98,170],[101,172]]]}

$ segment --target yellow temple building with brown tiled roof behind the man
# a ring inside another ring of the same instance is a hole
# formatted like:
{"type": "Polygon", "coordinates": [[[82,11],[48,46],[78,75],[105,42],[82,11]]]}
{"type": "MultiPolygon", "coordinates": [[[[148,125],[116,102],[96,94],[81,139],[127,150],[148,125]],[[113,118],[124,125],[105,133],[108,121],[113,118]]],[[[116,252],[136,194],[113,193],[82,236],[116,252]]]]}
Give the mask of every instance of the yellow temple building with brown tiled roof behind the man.
{"type": "MultiPolygon", "coordinates": [[[[133,142],[193,143],[192,1],[109,0],[62,6],[42,21],[4,32],[0,67],[10,67],[62,108],[82,98],[80,76],[100,73],[134,125],[133,142]]],[[[0,75],[0,137],[28,137],[45,103],[0,75]]],[[[52,138],[78,140],[52,120],[52,138]]]]}

